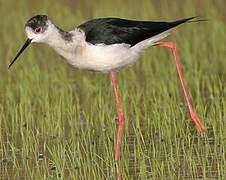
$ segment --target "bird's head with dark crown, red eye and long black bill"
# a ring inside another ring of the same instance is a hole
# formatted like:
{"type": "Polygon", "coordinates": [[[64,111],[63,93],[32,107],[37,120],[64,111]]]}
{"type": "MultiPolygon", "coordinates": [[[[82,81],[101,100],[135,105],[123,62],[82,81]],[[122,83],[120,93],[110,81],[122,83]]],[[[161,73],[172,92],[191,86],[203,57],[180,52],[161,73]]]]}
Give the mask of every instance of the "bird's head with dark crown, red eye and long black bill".
{"type": "Polygon", "coordinates": [[[9,68],[13,65],[20,54],[29,46],[29,44],[33,42],[40,43],[47,41],[47,38],[51,33],[51,25],[52,23],[46,15],[36,15],[26,22],[25,31],[27,34],[27,40],[10,63],[9,68]]]}

